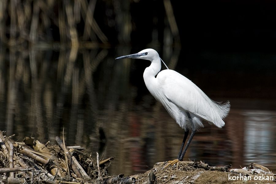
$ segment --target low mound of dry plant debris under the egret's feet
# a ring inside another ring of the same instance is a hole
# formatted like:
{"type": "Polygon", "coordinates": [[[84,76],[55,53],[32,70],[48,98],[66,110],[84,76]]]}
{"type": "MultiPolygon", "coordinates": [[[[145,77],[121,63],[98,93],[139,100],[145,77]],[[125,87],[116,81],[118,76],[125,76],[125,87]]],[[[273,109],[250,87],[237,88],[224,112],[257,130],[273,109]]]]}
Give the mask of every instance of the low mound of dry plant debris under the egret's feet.
{"type": "Polygon", "coordinates": [[[178,161],[167,167],[168,164],[170,162],[156,163],[150,171],[133,176],[136,178],[136,184],[238,184],[249,180],[254,184],[276,182],[276,174],[256,163],[251,163],[242,169],[230,169],[231,164],[212,167],[202,161],[178,161]],[[240,178],[240,176],[246,177],[240,178]]]}

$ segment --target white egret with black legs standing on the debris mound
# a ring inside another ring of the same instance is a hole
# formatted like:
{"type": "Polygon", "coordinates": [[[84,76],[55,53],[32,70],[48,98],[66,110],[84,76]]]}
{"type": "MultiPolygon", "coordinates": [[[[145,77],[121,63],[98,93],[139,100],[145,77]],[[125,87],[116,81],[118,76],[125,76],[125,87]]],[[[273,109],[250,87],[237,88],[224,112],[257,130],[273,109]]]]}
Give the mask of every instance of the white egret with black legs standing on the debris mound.
{"type": "Polygon", "coordinates": [[[144,49],[137,54],[121,56],[116,59],[123,58],[151,61],[151,65],[144,71],[145,84],[152,96],[162,103],[176,123],[185,130],[178,159],[171,161],[171,165],[178,160],[183,160],[195,132],[203,127],[202,120],[219,128],[224,126],[223,119],[228,115],[230,103],[221,104],[211,100],[193,82],[174,70],[160,71],[161,59],[155,50],[144,49]],[[189,130],[192,132],[184,151],[182,151],[189,130]]]}

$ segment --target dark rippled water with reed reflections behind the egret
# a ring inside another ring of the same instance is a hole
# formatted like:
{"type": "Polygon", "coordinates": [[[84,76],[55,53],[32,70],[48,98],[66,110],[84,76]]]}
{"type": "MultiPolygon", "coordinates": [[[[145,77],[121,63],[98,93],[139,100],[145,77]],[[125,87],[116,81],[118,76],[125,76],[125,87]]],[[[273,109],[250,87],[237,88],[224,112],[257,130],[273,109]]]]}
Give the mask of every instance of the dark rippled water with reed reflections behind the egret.
{"type": "MultiPolygon", "coordinates": [[[[114,60],[134,52],[2,49],[1,130],[18,140],[33,136],[55,144],[64,128],[68,146],[115,157],[109,169],[115,175],[137,174],[175,159],[184,131],[144,85],[143,71],[150,63],[114,60]]],[[[206,124],[185,159],[232,163],[233,168],[255,162],[276,171],[276,54],[204,51],[192,56],[182,51],[160,56],[212,99],[231,102],[225,126],[206,124]]]]}

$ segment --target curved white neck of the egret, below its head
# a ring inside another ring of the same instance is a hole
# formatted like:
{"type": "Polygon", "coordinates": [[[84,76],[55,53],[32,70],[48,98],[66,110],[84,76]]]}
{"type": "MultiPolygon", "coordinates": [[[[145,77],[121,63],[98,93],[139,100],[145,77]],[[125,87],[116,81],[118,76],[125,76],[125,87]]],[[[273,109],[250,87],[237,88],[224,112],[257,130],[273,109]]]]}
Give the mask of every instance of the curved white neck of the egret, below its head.
{"type": "Polygon", "coordinates": [[[161,70],[161,61],[159,57],[154,58],[151,61],[151,65],[147,67],[144,71],[144,81],[145,84],[149,90],[149,92],[155,96],[155,89],[157,89],[157,79],[155,78],[155,75],[158,74],[158,72],[161,70]]]}

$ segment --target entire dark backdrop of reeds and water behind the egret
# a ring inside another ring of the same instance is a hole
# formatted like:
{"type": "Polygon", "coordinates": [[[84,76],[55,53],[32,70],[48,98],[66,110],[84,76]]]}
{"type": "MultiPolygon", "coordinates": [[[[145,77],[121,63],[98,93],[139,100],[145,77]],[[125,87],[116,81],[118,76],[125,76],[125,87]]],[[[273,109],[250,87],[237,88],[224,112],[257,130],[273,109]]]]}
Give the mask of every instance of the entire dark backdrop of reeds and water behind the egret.
{"type": "Polygon", "coordinates": [[[197,132],[185,159],[235,168],[252,161],[275,171],[276,2],[11,0],[0,7],[6,135],[55,144],[64,127],[67,145],[116,157],[116,175],[175,159],[183,130],[144,84],[150,62],[115,60],[153,48],[210,98],[231,103],[225,127],[197,132]],[[138,169],[128,168],[133,163],[138,169]]]}

